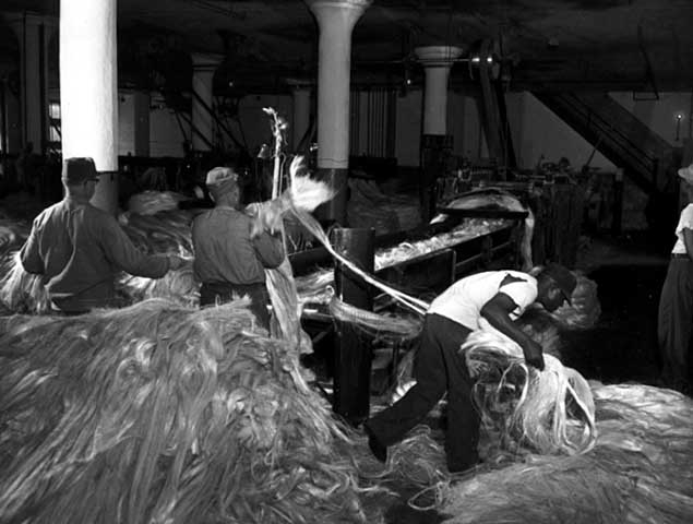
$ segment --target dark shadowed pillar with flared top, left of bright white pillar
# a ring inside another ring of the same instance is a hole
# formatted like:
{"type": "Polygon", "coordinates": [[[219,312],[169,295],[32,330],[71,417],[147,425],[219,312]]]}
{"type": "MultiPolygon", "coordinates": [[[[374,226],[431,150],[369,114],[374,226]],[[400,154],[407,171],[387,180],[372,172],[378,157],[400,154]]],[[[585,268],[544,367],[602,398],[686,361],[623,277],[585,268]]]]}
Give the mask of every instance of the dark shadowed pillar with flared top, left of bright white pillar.
{"type": "Polygon", "coordinates": [[[5,16],[20,44],[22,145],[45,150],[48,133],[48,40],[55,21],[34,13],[5,16]]]}

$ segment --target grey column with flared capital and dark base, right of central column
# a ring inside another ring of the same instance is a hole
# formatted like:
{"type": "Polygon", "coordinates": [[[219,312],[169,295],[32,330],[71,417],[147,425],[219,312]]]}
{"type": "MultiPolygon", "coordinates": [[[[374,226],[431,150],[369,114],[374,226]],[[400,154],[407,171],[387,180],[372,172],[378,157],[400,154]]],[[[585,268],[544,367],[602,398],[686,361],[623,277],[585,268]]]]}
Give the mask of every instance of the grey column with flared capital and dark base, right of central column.
{"type": "Polygon", "coordinates": [[[435,213],[435,180],[444,175],[452,153],[452,135],[447,135],[447,81],[453,60],[462,55],[462,49],[428,46],[417,47],[414,52],[426,72],[419,184],[421,218],[426,224],[435,213]]]}

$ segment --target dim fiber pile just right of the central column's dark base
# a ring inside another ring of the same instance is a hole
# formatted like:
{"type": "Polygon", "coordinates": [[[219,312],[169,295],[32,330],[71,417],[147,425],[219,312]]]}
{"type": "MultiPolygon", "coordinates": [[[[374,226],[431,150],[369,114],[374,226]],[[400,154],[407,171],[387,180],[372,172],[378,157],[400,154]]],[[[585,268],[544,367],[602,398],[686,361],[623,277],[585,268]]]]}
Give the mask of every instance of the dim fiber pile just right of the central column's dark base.
{"type": "Polygon", "coordinates": [[[418,199],[390,196],[375,181],[349,179],[347,219],[350,227],[375,229],[375,235],[407,231],[421,223],[418,199]]]}

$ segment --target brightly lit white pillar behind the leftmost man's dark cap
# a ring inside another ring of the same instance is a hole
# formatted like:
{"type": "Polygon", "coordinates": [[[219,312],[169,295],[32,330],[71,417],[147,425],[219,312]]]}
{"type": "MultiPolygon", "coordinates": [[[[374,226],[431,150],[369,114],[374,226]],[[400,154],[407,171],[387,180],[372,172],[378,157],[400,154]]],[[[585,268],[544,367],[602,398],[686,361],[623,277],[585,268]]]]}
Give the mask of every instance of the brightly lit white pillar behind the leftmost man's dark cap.
{"type": "Polygon", "coordinates": [[[89,156],[99,171],[92,203],[118,207],[116,0],[60,0],[62,156],[89,156]]]}

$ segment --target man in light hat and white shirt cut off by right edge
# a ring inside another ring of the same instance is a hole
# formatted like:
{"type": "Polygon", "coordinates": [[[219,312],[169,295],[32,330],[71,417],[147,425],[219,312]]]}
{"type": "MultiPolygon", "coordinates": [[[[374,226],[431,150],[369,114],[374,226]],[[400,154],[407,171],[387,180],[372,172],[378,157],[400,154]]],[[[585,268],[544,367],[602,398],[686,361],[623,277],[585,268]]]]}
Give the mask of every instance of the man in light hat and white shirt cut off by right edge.
{"type": "Polygon", "coordinates": [[[693,332],[693,164],[679,169],[688,205],[677,225],[667,277],[659,298],[657,337],[665,385],[691,391],[691,334],[693,332]]]}

